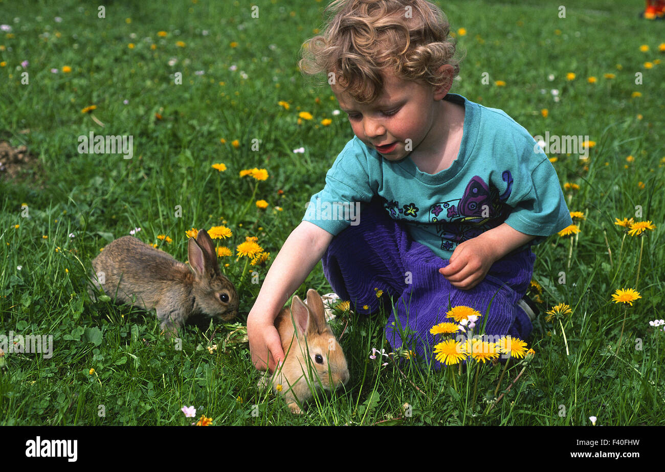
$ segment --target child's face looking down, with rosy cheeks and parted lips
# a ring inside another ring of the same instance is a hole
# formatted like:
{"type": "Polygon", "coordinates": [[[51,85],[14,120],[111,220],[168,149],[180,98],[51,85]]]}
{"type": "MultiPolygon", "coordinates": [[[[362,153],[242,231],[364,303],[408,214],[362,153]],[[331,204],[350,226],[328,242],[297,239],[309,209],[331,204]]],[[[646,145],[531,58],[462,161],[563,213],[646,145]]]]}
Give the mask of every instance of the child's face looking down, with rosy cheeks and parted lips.
{"type": "Polygon", "coordinates": [[[423,152],[438,148],[439,133],[432,132],[440,118],[440,101],[448,92],[384,74],[384,90],[370,104],[360,104],[338,86],[332,86],[351,128],[368,148],[397,161],[424,144],[423,152]]]}

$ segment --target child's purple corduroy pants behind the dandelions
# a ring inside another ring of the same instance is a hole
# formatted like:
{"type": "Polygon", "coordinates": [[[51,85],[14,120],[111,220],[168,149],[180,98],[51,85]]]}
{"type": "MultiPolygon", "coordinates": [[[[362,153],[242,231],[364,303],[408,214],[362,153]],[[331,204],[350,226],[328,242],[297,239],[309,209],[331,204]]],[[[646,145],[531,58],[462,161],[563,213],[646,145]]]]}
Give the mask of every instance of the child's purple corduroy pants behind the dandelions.
{"type": "Polygon", "coordinates": [[[322,262],[334,292],[350,300],[356,312],[376,312],[380,304],[390,312],[385,333],[393,349],[412,349],[428,360],[434,348],[430,328],[455,322],[446,318],[452,306],[470,306],[483,315],[474,333],[486,323],[485,334],[525,340],[531,321],[517,302],[529,287],[534,261],[530,248],[507,255],[473,289],[456,289],[439,273],[448,260],[413,241],[404,224],[390,218],[382,200],[375,198],[360,213],[358,225],[332,239],[322,262]],[[382,296],[376,296],[377,289],[382,296]]]}

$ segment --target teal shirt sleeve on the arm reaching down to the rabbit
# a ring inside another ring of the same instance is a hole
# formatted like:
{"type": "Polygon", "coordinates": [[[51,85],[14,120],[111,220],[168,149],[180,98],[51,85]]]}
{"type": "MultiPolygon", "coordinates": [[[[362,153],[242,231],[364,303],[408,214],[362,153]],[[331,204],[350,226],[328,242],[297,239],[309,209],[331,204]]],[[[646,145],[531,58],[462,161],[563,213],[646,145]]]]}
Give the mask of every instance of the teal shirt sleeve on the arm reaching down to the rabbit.
{"type": "Polygon", "coordinates": [[[370,159],[362,147],[350,140],[326,174],[325,187],[312,195],[302,221],[309,221],[333,236],[360,222],[360,210],[376,189],[370,184],[370,159]]]}

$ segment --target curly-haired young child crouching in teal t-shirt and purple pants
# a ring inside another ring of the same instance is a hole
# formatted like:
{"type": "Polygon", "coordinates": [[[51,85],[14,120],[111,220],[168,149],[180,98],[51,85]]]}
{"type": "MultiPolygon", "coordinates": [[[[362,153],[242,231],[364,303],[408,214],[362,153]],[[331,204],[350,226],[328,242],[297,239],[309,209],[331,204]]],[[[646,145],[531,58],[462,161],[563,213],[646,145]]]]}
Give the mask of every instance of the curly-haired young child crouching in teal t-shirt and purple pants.
{"type": "Polygon", "coordinates": [[[249,312],[253,363],[272,371],[283,359],[273,320],[322,257],[332,289],[356,312],[383,304],[392,313],[393,348],[429,358],[430,328],[459,305],[483,316],[489,306],[486,334],[524,339],[530,246],[572,224],[552,164],[507,114],[448,93],[459,66],[438,7],[337,0],[329,9],[300,65],[325,72],[355,137],[249,312]],[[348,214],[356,202],[359,224],[348,214]]]}

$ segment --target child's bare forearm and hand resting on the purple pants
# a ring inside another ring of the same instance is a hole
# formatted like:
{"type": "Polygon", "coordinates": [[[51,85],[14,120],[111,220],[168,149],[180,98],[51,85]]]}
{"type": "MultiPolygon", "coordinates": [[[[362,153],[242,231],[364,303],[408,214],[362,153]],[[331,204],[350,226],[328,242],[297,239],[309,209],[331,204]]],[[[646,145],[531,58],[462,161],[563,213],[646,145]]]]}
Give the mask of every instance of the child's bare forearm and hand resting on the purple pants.
{"type": "Polygon", "coordinates": [[[485,279],[493,263],[533,238],[503,223],[460,243],[450,256],[450,264],[439,273],[458,289],[473,289],[485,279]]]}

